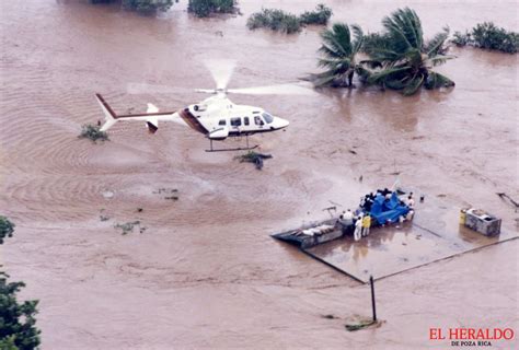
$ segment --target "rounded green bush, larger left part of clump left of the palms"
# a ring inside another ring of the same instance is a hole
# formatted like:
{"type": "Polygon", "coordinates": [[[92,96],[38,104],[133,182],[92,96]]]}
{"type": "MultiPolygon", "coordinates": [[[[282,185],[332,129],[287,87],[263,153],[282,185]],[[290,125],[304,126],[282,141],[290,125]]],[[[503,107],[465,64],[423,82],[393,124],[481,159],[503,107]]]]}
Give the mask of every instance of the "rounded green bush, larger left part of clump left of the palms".
{"type": "Polygon", "coordinates": [[[297,33],[301,30],[301,22],[297,15],[281,10],[263,9],[262,12],[253,13],[246,21],[250,30],[267,27],[275,32],[287,34],[297,33]]]}

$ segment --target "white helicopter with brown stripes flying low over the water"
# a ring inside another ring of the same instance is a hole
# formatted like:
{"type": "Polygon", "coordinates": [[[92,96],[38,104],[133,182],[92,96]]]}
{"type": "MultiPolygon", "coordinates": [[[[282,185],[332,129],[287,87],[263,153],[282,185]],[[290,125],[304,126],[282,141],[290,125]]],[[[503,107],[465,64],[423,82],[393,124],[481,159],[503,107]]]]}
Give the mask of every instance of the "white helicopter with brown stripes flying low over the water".
{"type": "MultiPolygon", "coordinates": [[[[232,61],[209,61],[206,62],[216,81],[214,90],[195,90],[197,92],[210,93],[210,96],[198,104],[188,105],[177,112],[159,112],[154,105],[148,103],[148,110],[145,114],[117,115],[114,109],[100,95],[95,94],[105,116],[105,124],[101,131],[106,131],[119,120],[146,121],[151,133],[159,129],[159,121],[174,121],[205,135],[210,141],[210,149],[215,151],[239,151],[252,150],[257,145],[249,147],[249,136],[257,132],[270,132],[286,128],[289,122],[280,117],[273,116],[265,109],[255,106],[237,105],[232,103],[227,94],[311,94],[312,91],[295,84],[281,84],[272,86],[227,89],[232,75],[234,63],[232,61]],[[242,137],[246,139],[245,148],[214,149],[212,141],[221,141],[229,137],[242,137]]],[[[130,84],[130,93],[149,93],[152,85],[130,84]]],[[[157,89],[155,89],[157,90],[157,89]]],[[[168,88],[159,89],[161,93],[170,91],[168,88]]]]}

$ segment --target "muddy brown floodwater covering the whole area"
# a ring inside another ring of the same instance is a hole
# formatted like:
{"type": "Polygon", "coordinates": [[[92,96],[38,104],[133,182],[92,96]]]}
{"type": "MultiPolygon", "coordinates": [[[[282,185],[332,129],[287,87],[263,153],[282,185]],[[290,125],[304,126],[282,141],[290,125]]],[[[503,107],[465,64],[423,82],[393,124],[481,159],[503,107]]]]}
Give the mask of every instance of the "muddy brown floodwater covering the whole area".
{"type": "Polygon", "coordinates": [[[274,154],[262,172],[204,152],[207,140],[176,125],[150,136],[118,124],[104,144],[77,138],[102,117],[95,92],[118,112],[196,102],[193,92],[126,89],[211,88],[206,58],[238,60],[234,88],[315,71],[319,28],[286,36],[245,22],[262,7],[300,12],[316,2],[367,31],[403,5],[426,36],[489,20],[518,30],[517,2],[505,1],[240,1],[243,16],[209,20],[187,15],[185,1],[159,19],[73,1],[1,2],[0,211],[16,224],[1,264],[27,283],[22,298],[41,300],[43,349],[445,348],[428,340],[430,327],[518,329],[517,240],[380,280],[385,323],[348,332],[347,319],[370,315],[368,287],[268,236],[324,218],[330,201],[354,206],[394,172],[517,231],[517,213],[496,196],[519,198],[517,55],[452,48],[458,58],[439,70],[455,89],[412,97],[361,89],[232,97],[291,122],[252,138],[274,154]],[[145,233],[113,228],[134,220],[145,233]]]}

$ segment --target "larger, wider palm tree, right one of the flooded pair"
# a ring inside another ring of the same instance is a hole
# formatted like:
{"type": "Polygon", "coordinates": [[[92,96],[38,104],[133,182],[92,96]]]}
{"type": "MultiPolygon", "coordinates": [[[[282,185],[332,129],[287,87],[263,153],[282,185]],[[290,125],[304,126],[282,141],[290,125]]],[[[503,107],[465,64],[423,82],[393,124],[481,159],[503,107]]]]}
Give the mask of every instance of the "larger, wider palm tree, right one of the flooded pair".
{"type": "Polygon", "coordinates": [[[425,43],[419,18],[410,8],[396,10],[382,24],[383,40],[367,43],[364,48],[370,56],[364,63],[378,68],[368,78],[369,83],[401,90],[404,95],[416,93],[422,85],[426,89],[454,85],[452,80],[431,70],[453,58],[445,55],[448,28],[425,43]]]}

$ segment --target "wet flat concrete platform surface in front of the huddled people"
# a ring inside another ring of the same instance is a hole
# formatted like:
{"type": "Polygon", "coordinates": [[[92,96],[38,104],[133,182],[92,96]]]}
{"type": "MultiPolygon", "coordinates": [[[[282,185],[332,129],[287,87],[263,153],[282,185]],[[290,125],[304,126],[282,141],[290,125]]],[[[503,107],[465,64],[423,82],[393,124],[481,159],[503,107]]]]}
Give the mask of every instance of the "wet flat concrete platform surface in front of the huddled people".
{"type": "MultiPolygon", "coordinates": [[[[301,250],[361,282],[519,237],[501,230],[488,237],[459,224],[460,208],[432,199],[416,205],[413,222],[374,228],[355,242],[347,236],[301,250]]],[[[489,261],[492,262],[492,261],[489,261]]]]}

